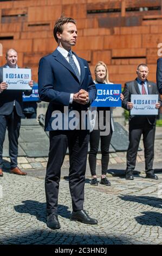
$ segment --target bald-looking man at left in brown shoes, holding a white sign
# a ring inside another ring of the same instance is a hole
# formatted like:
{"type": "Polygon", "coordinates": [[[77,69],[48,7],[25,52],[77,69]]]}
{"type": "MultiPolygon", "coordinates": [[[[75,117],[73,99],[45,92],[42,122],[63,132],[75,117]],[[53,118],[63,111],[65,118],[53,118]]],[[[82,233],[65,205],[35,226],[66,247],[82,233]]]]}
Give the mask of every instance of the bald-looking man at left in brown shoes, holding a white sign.
{"type": "MultiPolygon", "coordinates": [[[[22,117],[22,90],[7,90],[8,84],[3,82],[4,68],[18,68],[17,52],[14,49],[9,49],[6,53],[7,63],[0,68],[0,176],[2,172],[2,153],[5,132],[8,128],[9,136],[9,155],[11,161],[11,173],[18,175],[26,175],[17,167],[18,155],[18,136],[20,133],[21,117],[22,117]]],[[[30,87],[33,87],[33,81],[29,82],[30,87]]],[[[25,95],[30,95],[31,90],[24,92],[25,95]]]]}

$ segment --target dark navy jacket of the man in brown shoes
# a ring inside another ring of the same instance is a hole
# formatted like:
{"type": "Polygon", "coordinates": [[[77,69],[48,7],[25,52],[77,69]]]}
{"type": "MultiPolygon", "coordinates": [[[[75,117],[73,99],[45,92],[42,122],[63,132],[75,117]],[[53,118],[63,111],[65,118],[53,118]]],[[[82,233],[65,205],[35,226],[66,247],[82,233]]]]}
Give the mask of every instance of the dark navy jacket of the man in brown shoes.
{"type": "MultiPolygon", "coordinates": [[[[0,67],[0,83],[3,82],[3,68],[7,68],[7,64],[0,67]]],[[[31,90],[25,91],[25,95],[30,95],[31,90]]],[[[0,93],[0,115],[9,115],[14,109],[14,101],[17,114],[22,116],[22,90],[4,90],[0,93]]]]}

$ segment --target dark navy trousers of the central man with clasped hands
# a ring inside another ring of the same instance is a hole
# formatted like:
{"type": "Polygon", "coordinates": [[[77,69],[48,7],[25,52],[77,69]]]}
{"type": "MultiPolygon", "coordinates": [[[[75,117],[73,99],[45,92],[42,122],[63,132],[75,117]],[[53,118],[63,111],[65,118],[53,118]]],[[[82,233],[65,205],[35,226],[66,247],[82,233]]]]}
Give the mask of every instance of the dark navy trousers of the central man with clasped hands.
{"type": "Polygon", "coordinates": [[[57,212],[61,166],[69,148],[69,188],[73,210],[82,210],[89,135],[86,130],[50,131],[45,179],[47,214],[57,212]]]}

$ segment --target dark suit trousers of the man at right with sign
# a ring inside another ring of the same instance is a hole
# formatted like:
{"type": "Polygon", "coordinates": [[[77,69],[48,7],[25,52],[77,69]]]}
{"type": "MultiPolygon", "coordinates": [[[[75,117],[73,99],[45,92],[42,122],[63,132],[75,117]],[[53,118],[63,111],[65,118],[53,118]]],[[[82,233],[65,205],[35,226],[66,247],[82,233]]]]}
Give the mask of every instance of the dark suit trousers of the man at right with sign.
{"type": "MultiPolygon", "coordinates": [[[[137,120],[137,119],[136,119],[137,120]]],[[[141,135],[143,135],[143,143],[145,150],[145,171],[147,174],[153,173],[153,158],[154,158],[154,137],[155,125],[148,123],[146,117],[138,124],[134,120],[129,122],[129,147],[127,150],[127,169],[134,170],[137,158],[137,152],[141,135]]]]}

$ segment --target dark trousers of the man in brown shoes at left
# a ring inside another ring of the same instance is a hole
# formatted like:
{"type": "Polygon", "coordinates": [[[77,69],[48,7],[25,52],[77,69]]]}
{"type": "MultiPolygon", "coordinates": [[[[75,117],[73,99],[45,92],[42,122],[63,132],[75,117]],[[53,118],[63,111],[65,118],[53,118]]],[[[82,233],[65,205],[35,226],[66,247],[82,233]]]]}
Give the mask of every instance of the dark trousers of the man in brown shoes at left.
{"type": "Polygon", "coordinates": [[[0,115],[0,168],[2,168],[3,142],[5,131],[8,129],[9,156],[11,169],[17,167],[18,137],[20,134],[21,118],[17,115],[16,109],[10,115],[0,115]]]}

